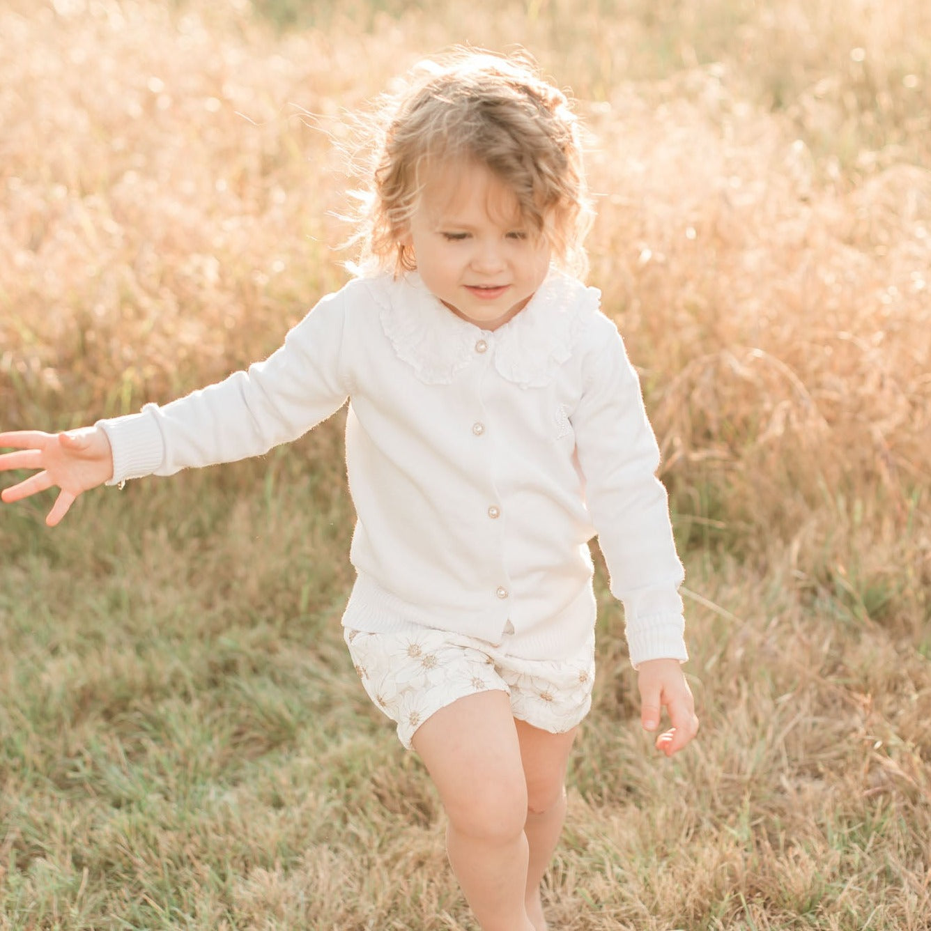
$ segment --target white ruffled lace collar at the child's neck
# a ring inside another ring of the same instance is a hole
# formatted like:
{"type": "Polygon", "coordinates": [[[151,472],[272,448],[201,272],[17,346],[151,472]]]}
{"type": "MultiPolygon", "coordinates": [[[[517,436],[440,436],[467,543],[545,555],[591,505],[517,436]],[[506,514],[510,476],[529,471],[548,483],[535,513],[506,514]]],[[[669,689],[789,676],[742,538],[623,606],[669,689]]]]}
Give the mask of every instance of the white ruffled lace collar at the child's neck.
{"type": "Polygon", "coordinates": [[[573,352],[577,332],[600,305],[600,290],[552,269],[520,313],[497,330],[456,317],[414,273],[372,278],[382,328],[398,358],[427,385],[448,385],[475,359],[479,339],[493,348],[495,369],[521,387],[546,385],[573,352]]]}

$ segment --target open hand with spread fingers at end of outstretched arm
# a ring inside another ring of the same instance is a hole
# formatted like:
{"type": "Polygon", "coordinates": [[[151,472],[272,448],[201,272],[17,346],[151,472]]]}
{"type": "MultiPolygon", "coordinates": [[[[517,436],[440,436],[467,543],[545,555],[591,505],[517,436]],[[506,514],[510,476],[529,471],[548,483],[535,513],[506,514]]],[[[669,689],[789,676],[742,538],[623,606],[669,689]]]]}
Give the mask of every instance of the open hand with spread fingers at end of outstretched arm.
{"type": "Polygon", "coordinates": [[[79,494],[113,478],[110,440],[99,426],[64,433],[38,430],[0,433],[0,447],[4,446],[19,452],[0,455],[0,472],[30,468],[40,471],[5,488],[0,498],[12,503],[52,487],[59,488],[59,496],[46,518],[49,527],[59,523],[79,494]]]}

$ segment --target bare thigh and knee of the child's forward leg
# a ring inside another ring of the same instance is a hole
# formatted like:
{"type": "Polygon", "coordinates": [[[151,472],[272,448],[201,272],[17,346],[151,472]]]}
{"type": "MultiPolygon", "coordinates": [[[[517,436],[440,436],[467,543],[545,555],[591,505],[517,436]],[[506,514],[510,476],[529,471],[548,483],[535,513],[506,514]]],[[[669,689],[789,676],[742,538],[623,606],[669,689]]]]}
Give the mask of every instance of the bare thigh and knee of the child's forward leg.
{"type": "Polygon", "coordinates": [[[412,744],[453,824],[503,833],[522,828],[527,788],[506,692],[466,695],[439,708],[412,744]]]}

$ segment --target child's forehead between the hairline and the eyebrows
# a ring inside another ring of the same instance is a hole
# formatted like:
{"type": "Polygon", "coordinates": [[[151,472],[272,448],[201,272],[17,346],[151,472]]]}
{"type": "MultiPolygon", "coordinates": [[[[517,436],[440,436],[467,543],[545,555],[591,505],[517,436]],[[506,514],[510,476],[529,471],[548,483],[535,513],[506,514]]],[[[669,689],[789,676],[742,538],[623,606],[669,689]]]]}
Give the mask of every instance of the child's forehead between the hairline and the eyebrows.
{"type": "Polygon", "coordinates": [[[522,219],[518,198],[506,183],[484,165],[466,160],[429,169],[420,205],[434,222],[489,219],[509,224],[522,219]]]}

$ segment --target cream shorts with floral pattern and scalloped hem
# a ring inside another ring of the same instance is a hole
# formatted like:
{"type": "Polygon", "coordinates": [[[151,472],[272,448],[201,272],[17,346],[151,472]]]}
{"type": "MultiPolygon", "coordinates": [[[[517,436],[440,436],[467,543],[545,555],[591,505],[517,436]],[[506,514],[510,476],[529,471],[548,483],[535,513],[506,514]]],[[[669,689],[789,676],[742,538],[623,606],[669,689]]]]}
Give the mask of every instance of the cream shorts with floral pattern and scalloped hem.
{"type": "Polygon", "coordinates": [[[365,691],[398,724],[407,749],[430,715],[477,692],[506,692],[515,718],[552,734],[571,730],[591,708],[594,631],[579,654],[555,661],[417,625],[391,633],[347,627],[344,638],[365,691]]]}

